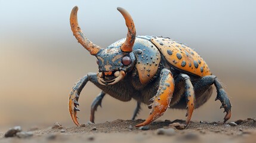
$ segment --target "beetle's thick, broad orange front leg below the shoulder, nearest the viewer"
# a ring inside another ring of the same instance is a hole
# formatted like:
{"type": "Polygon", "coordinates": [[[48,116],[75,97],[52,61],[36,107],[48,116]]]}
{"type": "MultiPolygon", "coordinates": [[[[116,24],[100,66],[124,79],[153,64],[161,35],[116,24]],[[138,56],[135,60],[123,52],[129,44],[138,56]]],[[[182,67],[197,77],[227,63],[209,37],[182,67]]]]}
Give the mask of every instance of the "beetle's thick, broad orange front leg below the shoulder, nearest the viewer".
{"type": "Polygon", "coordinates": [[[173,92],[174,79],[172,77],[171,71],[162,69],[158,92],[155,97],[150,100],[153,101],[153,103],[149,105],[149,108],[152,108],[150,115],[143,123],[136,125],[136,127],[148,125],[149,123],[158,119],[158,117],[161,117],[169,107],[173,92]]]}

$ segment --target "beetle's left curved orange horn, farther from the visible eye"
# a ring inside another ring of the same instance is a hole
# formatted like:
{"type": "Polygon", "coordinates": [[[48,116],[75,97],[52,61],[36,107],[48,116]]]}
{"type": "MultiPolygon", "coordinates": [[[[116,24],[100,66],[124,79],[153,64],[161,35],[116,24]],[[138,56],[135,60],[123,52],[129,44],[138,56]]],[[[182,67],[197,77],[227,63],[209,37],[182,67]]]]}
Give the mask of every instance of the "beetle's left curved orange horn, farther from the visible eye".
{"type": "Polygon", "coordinates": [[[100,51],[101,47],[98,45],[95,45],[90,40],[88,40],[82,30],[80,29],[78,25],[78,7],[75,6],[70,14],[70,26],[71,30],[73,32],[73,35],[76,37],[79,43],[81,43],[82,46],[84,46],[85,49],[87,49],[91,55],[96,55],[98,51],[100,51]]]}

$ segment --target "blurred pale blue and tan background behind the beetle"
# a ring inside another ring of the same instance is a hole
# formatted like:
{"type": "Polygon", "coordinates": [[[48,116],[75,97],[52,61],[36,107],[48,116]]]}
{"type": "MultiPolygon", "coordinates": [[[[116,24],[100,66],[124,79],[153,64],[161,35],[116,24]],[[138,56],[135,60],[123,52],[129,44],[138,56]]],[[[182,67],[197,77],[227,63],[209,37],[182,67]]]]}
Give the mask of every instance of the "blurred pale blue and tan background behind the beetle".
{"type": "MultiPolygon", "coordinates": [[[[256,2],[254,1],[4,1],[0,0],[0,131],[60,122],[69,117],[70,89],[88,72],[97,72],[95,57],[72,35],[70,11],[78,5],[85,35],[106,47],[125,38],[127,28],[116,7],[132,15],[137,35],[162,35],[187,43],[205,59],[232,102],[231,120],[256,117],[256,2]]],[[[88,83],[79,99],[79,122],[89,121],[90,105],[100,89],[88,83]]],[[[216,92],[192,120],[223,120],[216,92]]],[[[106,96],[96,123],[131,119],[135,101],[106,96]]],[[[146,119],[143,105],[138,118],[146,119]]],[[[166,111],[159,120],[185,119],[185,110],[166,111]]]]}

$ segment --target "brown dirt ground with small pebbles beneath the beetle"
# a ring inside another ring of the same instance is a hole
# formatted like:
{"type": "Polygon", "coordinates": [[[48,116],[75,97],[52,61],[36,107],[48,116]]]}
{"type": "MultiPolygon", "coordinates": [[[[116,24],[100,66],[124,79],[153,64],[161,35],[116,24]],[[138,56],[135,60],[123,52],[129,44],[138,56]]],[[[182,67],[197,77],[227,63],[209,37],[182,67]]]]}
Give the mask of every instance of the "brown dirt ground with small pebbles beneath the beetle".
{"type": "Polygon", "coordinates": [[[46,129],[31,128],[29,137],[4,137],[0,142],[255,142],[256,120],[248,118],[235,123],[191,122],[183,128],[183,120],[153,122],[144,128],[134,128],[143,120],[114,120],[87,123],[66,128],[60,123],[46,129]],[[230,126],[230,125],[232,126],[230,126]],[[179,128],[179,129],[176,129],[179,128]]]}

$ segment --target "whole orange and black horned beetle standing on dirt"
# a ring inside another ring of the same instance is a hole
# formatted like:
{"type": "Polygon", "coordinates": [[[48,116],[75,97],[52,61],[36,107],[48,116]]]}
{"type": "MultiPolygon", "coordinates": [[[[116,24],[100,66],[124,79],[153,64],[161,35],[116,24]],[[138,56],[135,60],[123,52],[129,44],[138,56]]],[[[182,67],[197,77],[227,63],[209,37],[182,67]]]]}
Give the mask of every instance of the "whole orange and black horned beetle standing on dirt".
{"type": "Polygon", "coordinates": [[[161,117],[166,109],[186,108],[186,126],[195,108],[211,97],[213,86],[217,90],[216,100],[221,101],[226,116],[231,117],[231,104],[226,92],[209,70],[203,58],[189,46],[162,36],[136,36],[131,15],[118,7],[128,28],[127,38],[112,43],[106,49],[87,39],[78,25],[78,7],[70,14],[73,35],[97,58],[98,73],[88,73],[72,88],[69,94],[69,113],[73,122],[77,120],[79,95],[88,81],[102,91],[91,105],[90,121],[106,94],[120,101],[137,101],[132,119],[140,111],[141,103],[147,104],[149,117],[136,127],[145,126],[161,117]]]}

